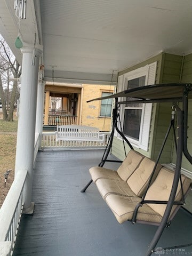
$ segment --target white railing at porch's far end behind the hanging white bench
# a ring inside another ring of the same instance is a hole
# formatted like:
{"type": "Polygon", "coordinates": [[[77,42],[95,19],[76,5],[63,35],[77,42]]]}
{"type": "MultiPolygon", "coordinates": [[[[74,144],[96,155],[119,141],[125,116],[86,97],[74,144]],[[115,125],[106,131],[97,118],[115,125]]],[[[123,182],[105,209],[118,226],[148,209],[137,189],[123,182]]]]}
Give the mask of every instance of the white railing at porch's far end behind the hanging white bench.
{"type": "Polygon", "coordinates": [[[42,147],[43,148],[59,148],[59,147],[104,147],[110,137],[110,132],[100,132],[100,134],[105,135],[105,142],[95,142],[95,141],[63,141],[55,140],[54,132],[43,132],[42,133],[42,147]]]}

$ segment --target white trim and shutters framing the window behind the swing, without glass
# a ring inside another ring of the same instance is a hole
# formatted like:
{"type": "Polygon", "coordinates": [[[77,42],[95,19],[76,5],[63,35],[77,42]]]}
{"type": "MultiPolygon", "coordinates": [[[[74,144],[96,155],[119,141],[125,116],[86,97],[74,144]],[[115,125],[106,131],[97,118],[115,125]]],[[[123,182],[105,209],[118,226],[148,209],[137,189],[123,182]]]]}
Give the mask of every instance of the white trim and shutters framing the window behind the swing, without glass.
{"type": "MultiPolygon", "coordinates": [[[[155,84],[156,69],[157,69],[157,61],[149,65],[146,65],[145,67],[132,70],[122,76],[119,76],[117,91],[121,92],[123,90],[126,90],[127,89],[126,86],[129,80],[132,80],[141,76],[146,77],[145,85],[155,84]]],[[[125,101],[125,100],[126,98],[121,99],[121,101],[125,101]]],[[[127,137],[127,139],[129,139],[129,141],[131,142],[132,146],[143,149],[145,151],[148,150],[152,106],[153,106],[152,103],[147,103],[147,104],[143,103],[139,141],[133,138],[127,137]]],[[[124,109],[125,109],[125,105],[121,105],[119,114],[121,117],[122,127],[123,127],[123,121],[124,121],[124,112],[125,112],[124,109]]],[[[115,135],[117,138],[122,139],[121,136],[117,134],[117,132],[115,133],[115,135]]]]}

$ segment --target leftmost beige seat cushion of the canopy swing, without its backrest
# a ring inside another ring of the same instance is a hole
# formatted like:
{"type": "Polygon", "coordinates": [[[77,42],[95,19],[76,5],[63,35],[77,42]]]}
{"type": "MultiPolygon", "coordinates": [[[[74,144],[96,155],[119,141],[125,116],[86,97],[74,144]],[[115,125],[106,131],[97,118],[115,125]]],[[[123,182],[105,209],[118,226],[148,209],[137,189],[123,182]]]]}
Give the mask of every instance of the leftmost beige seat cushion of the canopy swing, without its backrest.
{"type": "Polygon", "coordinates": [[[98,179],[110,179],[110,180],[121,180],[119,175],[117,174],[117,171],[106,169],[103,167],[91,167],[90,168],[90,174],[91,178],[94,182],[96,182],[98,179]]]}

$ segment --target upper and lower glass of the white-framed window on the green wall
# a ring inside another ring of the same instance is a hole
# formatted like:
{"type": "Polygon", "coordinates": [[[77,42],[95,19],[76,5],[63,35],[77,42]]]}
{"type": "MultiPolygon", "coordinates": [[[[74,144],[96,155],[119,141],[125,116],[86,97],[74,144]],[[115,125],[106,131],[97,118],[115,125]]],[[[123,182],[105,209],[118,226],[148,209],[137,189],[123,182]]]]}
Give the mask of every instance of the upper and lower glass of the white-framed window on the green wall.
{"type": "MultiPolygon", "coordinates": [[[[146,79],[146,76],[142,76],[139,78],[129,80],[127,83],[126,89],[130,90],[140,86],[144,86],[145,79],[146,79]]],[[[134,98],[127,98],[127,100],[134,100],[134,98]]],[[[135,140],[139,140],[142,111],[143,111],[142,103],[131,104],[131,105],[127,104],[125,106],[123,132],[125,135],[135,140]]]]}

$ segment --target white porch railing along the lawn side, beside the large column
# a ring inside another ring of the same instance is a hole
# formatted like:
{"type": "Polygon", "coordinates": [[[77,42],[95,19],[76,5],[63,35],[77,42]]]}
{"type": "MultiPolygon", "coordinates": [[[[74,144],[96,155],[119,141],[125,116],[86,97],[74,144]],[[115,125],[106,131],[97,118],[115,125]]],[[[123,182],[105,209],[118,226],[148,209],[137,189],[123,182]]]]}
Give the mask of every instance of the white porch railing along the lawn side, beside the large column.
{"type": "MultiPolygon", "coordinates": [[[[34,162],[37,156],[41,136],[35,134],[34,143],[34,162]]],[[[18,229],[23,211],[23,187],[27,178],[27,170],[19,172],[7,194],[5,201],[0,209],[0,255],[12,255],[18,229]]]]}

